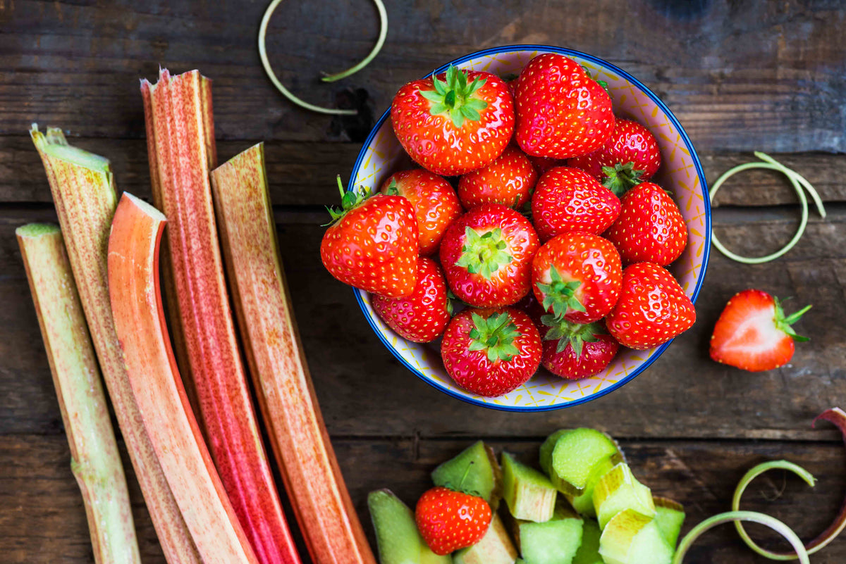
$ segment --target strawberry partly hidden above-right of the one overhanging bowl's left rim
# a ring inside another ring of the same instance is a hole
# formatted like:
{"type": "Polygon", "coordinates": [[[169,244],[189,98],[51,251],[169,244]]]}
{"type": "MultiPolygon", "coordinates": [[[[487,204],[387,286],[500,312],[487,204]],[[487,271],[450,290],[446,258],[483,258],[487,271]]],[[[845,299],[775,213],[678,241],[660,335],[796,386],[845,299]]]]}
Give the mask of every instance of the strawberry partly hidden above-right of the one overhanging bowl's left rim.
{"type": "Polygon", "coordinates": [[[415,209],[420,254],[437,252],[443,232],[464,213],[453,187],[437,174],[418,168],[400,171],[382,183],[382,193],[408,198],[415,209]]]}

